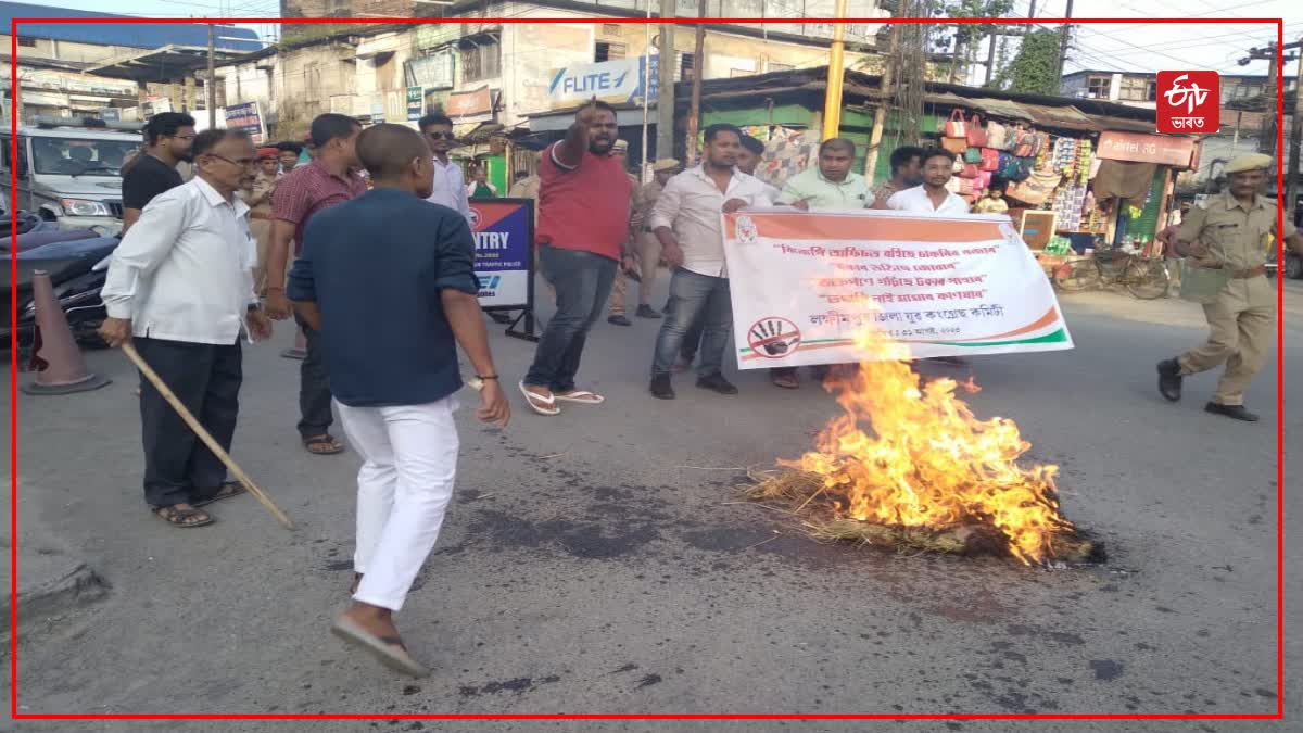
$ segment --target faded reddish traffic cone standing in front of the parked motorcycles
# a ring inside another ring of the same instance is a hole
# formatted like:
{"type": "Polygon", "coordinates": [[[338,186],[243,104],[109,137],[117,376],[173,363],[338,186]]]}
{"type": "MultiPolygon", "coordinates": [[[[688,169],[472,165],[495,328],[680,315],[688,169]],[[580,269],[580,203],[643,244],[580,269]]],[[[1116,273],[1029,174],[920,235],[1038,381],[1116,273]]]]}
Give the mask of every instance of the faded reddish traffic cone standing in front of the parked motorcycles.
{"type": "Polygon", "coordinates": [[[31,347],[31,363],[36,380],[23,385],[27,394],[73,394],[98,390],[109,382],[86,369],[68,317],[55,300],[55,286],[50,274],[36,270],[31,278],[31,292],[36,301],[36,338],[31,347]]]}

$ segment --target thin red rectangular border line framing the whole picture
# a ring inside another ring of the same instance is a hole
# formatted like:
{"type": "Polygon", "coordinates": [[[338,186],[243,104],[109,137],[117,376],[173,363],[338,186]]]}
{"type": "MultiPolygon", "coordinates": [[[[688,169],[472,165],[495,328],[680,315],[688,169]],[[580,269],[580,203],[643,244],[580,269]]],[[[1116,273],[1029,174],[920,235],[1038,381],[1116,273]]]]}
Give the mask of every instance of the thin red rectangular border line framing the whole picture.
{"type": "MultiPolygon", "coordinates": [[[[791,18],[597,18],[607,23],[786,23],[791,18]]],[[[799,18],[805,22],[839,22],[835,18],[799,18]]],[[[1281,47],[1285,46],[1285,20],[1283,18],[1139,18],[1153,23],[1272,23],[1276,25],[1276,69],[1277,78],[1283,78],[1285,63],[1281,47]]],[[[377,25],[425,25],[425,23],[590,23],[594,21],[576,21],[572,18],[12,18],[9,23],[10,56],[9,56],[9,82],[10,89],[18,90],[18,23],[377,23],[377,25]]],[[[1138,18],[843,18],[840,22],[848,23],[989,23],[999,22],[1006,25],[1031,23],[1135,23],[1138,18]],[[887,22],[885,22],[887,21],[887,22]]],[[[13,93],[10,93],[12,98],[13,93]]],[[[18,157],[18,120],[10,112],[10,155],[18,157]]],[[[1276,85],[1276,134],[1277,150],[1285,150],[1285,85],[1276,85]]],[[[17,210],[18,179],[17,171],[10,170],[10,211],[17,210]]],[[[1283,166],[1276,166],[1277,196],[1285,190],[1283,166]]],[[[1283,228],[1283,209],[1277,206],[1277,231],[1283,228]]],[[[17,235],[17,223],[10,223],[10,236],[17,235]]],[[[1283,273],[1281,261],[1283,247],[1277,247],[1278,273],[1283,273]]],[[[17,279],[18,263],[10,258],[10,280],[17,279]]],[[[543,713],[517,713],[517,715],[486,715],[486,713],[447,713],[447,715],[414,715],[414,713],[337,713],[337,715],[275,715],[275,713],[232,713],[232,715],[182,715],[182,713],[134,713],[134,715],[76,715],[76,713],[44,713],[21,715],[18,713],[18,343],[17,343],[17,291],[9,293],[10,318],[10,370],[9,370],[9,480],[10,480],[10,549],[9,549],[9,715],[13,720],[1283,720],[1285,719],[1285,321],[1281,317],[1285,309],[1285,290],[1280,287],[1280,275],[1276,282],[1276,712],[1274,713],[773,713],[773,715],[727,715],[727,713],[575,713],[575,715],[543,715],[543,713]]]]}

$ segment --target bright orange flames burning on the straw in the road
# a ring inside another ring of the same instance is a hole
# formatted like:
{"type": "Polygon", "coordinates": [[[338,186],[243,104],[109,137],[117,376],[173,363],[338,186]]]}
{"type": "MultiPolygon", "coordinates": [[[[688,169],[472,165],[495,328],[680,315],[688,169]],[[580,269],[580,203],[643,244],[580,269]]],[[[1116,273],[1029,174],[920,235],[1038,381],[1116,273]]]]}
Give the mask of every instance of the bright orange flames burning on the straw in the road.
{"type": "MultiPolygon", "coordinates": [[[[920,385],[907,346],[876,330],[857,344],[881,360],[830,378],[844,415],[820,432],[817,450],[779,463],[821,476],[838,518],[936,530],[986,524],[1022,562],[1045,562],[1052,537],[1074,531],[1059,515],[1058,467],[1018,466],[1031,447],[1018,425],[973,417],[954,380],[920,385]]],[[[963,386],[977,391],[971,381],[963,386]]]]}

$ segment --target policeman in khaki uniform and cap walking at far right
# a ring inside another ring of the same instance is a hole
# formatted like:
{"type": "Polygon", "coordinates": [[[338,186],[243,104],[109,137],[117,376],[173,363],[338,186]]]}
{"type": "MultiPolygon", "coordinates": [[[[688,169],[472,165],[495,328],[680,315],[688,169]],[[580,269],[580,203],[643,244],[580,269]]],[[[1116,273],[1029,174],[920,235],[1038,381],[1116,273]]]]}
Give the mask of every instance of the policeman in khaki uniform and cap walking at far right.
{"type": "MultiPolygon", "coordinates": [[[[1177,233],[1177,253],[1187,257],[1181,297],[1200,303],[1208,343],[1158,363],[1158,391],[1181,399],[1182,378],[1226,364],[1217,393],[1204,408],[1253,423],[1244,390],[1263,368],[1276,334],[1276,290],[1267,279],[1269,237],[1276,235],[1276,201],[1260,192],[1272,167],[1269,155],[1240,155],[1226,166],[1227,189],[1190,210],[1177,233]]],[[[1303,239],[1285,219],[1282,244],[1303,253],[1303,239]]]]}

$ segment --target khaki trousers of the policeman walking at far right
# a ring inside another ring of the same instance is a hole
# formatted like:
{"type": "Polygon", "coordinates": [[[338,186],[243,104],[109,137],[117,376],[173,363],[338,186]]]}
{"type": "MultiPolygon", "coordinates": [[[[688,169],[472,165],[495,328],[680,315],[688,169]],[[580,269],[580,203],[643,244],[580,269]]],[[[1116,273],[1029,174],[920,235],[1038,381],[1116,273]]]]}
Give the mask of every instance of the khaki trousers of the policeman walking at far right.
{"type": "Polygon", "coordinates": [[[1197,374],[1226,364],[1213,402],[1244,404],[1244,390],[1267,363],[1276,334],[1276,299],[1265,277],[1231,280],[1204,304],[1208,343],[1182,353],[1182,374],[1197,374]]]}

